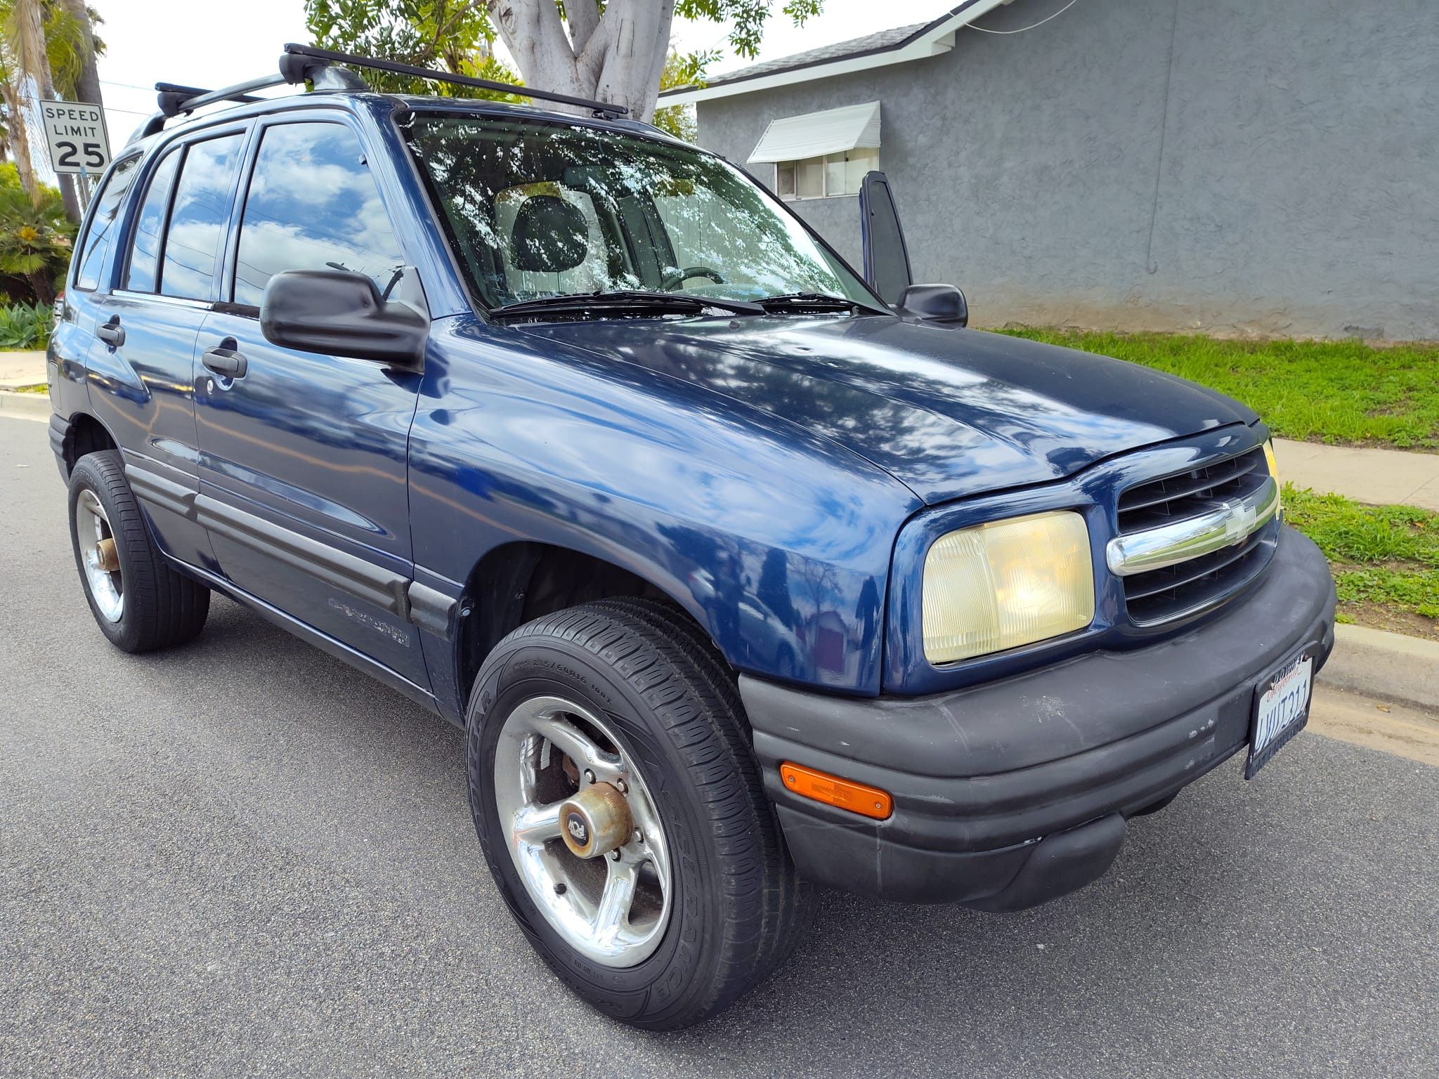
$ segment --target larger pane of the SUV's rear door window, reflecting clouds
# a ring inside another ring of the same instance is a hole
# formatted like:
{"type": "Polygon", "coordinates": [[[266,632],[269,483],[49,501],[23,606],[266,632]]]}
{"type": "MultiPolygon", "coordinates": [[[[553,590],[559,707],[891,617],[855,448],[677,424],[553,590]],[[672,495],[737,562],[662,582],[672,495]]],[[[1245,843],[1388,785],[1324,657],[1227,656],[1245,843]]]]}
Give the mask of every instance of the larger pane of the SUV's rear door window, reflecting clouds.
{"type": "Polygon", "coordinates": [[[191,142],[186,151],[160,270],[164,295],[210,298],[239,158],[239,134],[191,142]]]}

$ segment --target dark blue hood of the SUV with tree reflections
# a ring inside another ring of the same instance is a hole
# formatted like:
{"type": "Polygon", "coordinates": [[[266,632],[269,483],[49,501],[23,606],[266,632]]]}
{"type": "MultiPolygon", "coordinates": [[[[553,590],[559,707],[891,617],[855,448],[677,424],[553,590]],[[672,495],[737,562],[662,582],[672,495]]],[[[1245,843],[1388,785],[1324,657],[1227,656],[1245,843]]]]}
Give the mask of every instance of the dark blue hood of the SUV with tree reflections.
{"type": "Polygon", "coordinates": [[[521,329],[797,423],[931,505],[1062,479],[1115,453],[1258,419],[1222,394],[1121,360],[886,317],[521,329]]]}

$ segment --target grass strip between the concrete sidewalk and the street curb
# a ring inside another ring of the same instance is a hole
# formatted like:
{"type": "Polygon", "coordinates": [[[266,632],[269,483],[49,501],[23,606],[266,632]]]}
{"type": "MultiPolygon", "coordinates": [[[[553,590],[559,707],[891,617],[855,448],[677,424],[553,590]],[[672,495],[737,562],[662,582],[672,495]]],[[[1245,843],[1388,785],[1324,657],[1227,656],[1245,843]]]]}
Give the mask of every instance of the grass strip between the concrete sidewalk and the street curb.
{"type": "Polygon", "coordinates": [[[1439,514],[1286,483],[1284,515],[1330,560],[1341,622],[1439,640],[1439,514]]]}

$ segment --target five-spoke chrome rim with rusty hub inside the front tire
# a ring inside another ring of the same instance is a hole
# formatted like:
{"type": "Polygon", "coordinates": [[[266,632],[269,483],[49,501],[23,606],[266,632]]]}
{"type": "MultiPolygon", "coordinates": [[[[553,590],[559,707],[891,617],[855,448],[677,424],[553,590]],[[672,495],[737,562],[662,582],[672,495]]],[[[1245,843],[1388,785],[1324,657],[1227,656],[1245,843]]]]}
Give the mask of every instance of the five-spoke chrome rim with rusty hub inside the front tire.
{"type": "Polygon", "coordinates": [[[669,924],[669,849],[645,780],[604,721],[558,696],[524,701],[501,727],[492,790],[545,921],[606,967],[648,958],[669,924]]]}

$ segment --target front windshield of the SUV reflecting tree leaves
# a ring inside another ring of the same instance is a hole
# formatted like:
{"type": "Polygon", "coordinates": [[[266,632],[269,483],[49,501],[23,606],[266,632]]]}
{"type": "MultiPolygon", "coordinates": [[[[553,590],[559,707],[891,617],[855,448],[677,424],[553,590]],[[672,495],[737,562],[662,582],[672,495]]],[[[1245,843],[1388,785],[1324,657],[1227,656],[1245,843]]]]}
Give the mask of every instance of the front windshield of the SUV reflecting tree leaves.
{"type": "Polygon", "coordinates": [[[691,147],[423,112],[406,134],[486,308],[626,291],[881,306],[767,191],[691,147]]]}

